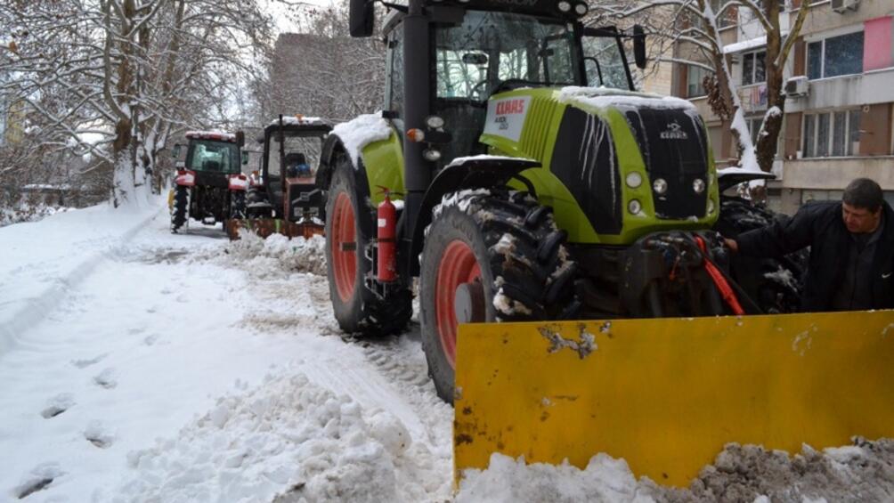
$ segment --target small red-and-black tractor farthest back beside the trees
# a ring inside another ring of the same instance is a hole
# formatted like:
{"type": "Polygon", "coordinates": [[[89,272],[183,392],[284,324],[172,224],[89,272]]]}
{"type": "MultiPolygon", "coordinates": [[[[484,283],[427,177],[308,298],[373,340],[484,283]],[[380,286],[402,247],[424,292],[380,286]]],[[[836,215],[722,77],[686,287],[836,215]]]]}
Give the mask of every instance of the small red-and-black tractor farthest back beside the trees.
{"type": "MultiPolygon", "coordinates": [[[[228,219],[245,215],[249,187],[249,178],[241,172],[241,166],[249,163],[249,153],[242,150],[245,134],[187,131],[186,138],[186,160],[177,162],[169,201],[171,232],[179,232],[190,218],[206,225],[220,222],[225,231],[228,219]]],[[[180,158],[182,147],[174,145],[174,158],[180,158]]]]}

